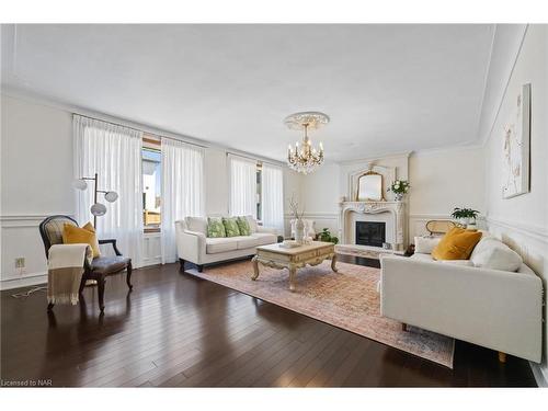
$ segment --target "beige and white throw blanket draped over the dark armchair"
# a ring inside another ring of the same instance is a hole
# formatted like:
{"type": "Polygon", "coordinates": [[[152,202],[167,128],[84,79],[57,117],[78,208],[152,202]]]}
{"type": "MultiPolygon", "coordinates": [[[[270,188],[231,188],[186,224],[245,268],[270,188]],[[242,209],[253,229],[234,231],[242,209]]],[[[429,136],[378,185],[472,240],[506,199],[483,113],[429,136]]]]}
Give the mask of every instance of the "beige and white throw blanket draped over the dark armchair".
{"type": "Polygon", "coordinates": [[[78,290],[85,260],[93,253],[88,244],[55,244],[49,248],[47,260],[47,302],[78,304],[78,290]]]}

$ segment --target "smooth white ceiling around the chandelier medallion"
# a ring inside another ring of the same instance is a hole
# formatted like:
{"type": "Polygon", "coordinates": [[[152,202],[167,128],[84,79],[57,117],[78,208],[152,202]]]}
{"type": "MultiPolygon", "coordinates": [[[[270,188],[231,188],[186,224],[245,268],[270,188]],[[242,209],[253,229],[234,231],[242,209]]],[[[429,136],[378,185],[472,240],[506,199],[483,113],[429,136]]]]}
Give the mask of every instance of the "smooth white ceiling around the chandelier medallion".
{"type": "Polygon", "coordinates": [[[283,160],[286,115],[335,161],[471,144],[494,26],[9,25],[2,85],[283,160]]]}

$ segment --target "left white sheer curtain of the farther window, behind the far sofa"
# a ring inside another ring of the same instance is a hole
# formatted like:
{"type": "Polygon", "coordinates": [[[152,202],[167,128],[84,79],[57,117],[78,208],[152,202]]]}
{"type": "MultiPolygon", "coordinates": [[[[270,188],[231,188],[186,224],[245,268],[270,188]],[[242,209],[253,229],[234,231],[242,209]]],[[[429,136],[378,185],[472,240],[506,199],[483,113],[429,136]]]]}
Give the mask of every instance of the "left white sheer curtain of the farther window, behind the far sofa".
{"type": "Polygon", "coordinates": [[[230,174],[229,213],[256,218],[256,161],[228,156],[230,174]]]}

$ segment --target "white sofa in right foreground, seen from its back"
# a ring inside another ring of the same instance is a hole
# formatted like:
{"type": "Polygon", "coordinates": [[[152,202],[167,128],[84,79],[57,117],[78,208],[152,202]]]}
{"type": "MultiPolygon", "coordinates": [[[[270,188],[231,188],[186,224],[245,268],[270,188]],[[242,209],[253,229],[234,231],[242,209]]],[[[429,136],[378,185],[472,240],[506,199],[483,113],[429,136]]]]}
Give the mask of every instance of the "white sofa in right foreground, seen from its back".
{"type": "Polygon", "coordinates": [[[496,350],[501,362],[507,353],[540,363],[543,283],[517,254],[517,261],[510,253],[504,260],[504,247],[487,237],[466,261],[441,262],[421,252],[384,256],[381,315],[496,350]],[[501,264],[517,270],[492,269],[501,264]]]}

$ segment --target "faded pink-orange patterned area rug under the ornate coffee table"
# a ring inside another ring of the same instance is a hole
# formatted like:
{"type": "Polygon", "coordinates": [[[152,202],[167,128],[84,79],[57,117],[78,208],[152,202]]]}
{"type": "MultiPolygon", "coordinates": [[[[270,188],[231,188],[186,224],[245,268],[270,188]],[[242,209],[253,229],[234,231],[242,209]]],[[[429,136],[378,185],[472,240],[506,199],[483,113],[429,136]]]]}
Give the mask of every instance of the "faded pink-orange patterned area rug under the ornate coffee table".
{"type": "Polygon", "coordinates": [[[186,272],[453,368],[454,339],[415,327],[403,331],[401,322],[380,316],[380,270],[338,263],[334,273],[330,264],[298,270],[294,293],[287,270],[260,265],[260,276],[252,281],[250,261],[186,272]]]}

